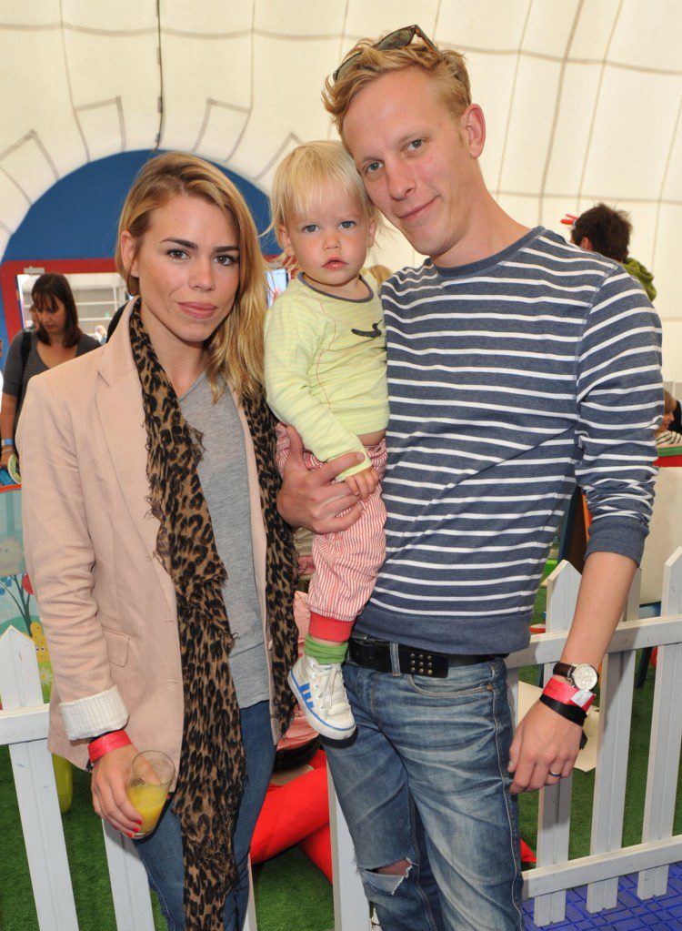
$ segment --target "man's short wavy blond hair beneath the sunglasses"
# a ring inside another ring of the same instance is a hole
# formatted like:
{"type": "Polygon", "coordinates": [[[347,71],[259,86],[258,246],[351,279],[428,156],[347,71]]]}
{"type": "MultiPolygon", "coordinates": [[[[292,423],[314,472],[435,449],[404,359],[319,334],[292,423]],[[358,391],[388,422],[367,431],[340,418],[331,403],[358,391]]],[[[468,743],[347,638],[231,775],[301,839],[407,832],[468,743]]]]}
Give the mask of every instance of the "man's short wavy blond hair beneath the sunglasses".
{"type": "Polygon", "coordinates": [[[453,116],[461,116],[471,103],[471,87],[464,57],[449,48],[430,48],[413,43],[404,48],[375,48],[375,40],[360,39],[346,55],[353,58],[334,82],[328,77],[322,101],[343,138],[343,119],[355,94],[381,74],[417,68],[433,77],[441,100],[453,116]],[[358,54],[359,53],[359,54],[358,54]]]}

